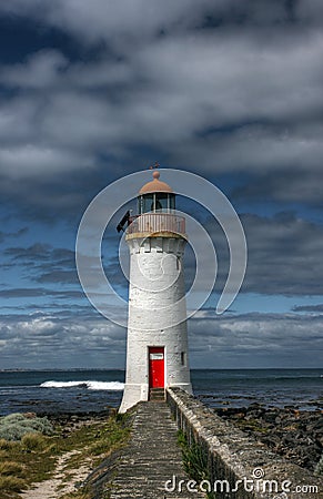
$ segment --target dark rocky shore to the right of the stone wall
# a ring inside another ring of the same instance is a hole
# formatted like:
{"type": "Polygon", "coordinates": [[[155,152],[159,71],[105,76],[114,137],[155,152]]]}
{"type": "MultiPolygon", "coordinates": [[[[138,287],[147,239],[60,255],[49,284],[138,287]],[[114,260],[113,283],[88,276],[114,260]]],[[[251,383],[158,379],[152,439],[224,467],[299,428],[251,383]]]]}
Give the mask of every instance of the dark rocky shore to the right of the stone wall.
{"type": "Polygon", "coordinates": [[[214,409],[214,413],[291,462],[312,472],[315,470],[323,451],[321,410],[266,408],[252,404],[249,407],[214,409]]]}

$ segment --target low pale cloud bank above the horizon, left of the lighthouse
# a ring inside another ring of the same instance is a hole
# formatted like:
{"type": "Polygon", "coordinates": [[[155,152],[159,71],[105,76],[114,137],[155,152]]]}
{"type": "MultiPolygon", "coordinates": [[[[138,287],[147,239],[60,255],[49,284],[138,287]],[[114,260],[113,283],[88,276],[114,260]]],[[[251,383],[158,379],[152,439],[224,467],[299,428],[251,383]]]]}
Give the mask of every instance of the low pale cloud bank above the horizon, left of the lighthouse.
{"type": "Polygon", "coordinates": [[[110,363],[108,366],[123,367],[124,363],[125,330],[90,316],[82,323],[46,314],[37,318],[2,316],[0,337],[2,366],[8,368],[89,366],[92,356],[93,366],[110,363]]]}

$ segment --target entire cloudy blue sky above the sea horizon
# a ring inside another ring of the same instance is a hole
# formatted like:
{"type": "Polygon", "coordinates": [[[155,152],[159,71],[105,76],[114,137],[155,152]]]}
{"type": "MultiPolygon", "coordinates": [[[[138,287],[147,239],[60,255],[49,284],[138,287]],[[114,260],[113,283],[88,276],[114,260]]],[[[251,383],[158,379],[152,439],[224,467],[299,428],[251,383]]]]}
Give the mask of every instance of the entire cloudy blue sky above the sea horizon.
{"type": "MultiPolygon", "coordinates": [[[[97,194],[149,181],[155,161],[161,180],[216,185],[246,236],[244,283],[219,316],[225,240],[179,200],[219,258],[189,320],[191,366],[321,367],[322,23],[320,0],[0,3],[0,369],[124,367],[127,330],[84,296],[75,238],[97,194]]],[[[127,296],[119,242],[111,223],[104,268],[127,296]]]]}

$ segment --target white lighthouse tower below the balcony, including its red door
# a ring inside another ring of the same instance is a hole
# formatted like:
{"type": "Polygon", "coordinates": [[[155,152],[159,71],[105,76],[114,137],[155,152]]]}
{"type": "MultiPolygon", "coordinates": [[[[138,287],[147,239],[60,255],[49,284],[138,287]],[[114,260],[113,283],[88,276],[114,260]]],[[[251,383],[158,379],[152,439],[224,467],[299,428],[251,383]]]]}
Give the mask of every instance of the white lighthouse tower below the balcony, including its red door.
{"type": "Polygon", "coordinates": [[[127,379],[120,413],[149,400],[154,387],[180,387],[192,394],[181,264],[185,240],[170,235],[133,237],[128,244],[127,379]]]}

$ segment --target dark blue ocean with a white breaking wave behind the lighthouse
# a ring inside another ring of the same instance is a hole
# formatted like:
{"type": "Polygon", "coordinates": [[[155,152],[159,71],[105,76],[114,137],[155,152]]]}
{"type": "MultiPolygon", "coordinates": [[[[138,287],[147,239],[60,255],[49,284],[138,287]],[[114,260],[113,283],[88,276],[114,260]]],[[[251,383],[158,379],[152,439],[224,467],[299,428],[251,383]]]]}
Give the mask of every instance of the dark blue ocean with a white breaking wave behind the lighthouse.
{"type": "MultiPolygon", "coordinates": [[[[210,407],[323,407],[323,369],[192,369],[194,395],[210,407]]],[[[112,369],[0,371],[0,416],[88,413],[120,405],[124,371],[112,369]]]]}

